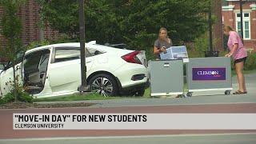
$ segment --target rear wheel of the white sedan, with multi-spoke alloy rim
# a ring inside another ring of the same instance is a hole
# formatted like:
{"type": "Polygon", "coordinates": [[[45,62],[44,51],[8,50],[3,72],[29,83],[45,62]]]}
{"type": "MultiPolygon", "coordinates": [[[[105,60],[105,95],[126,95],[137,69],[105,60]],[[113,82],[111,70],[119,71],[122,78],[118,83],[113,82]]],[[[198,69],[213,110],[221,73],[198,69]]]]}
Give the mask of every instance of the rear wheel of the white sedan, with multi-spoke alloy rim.
{"type": "Polygon", "coordinates": [[[102,96],[114,96],[118,94],[118,84],[108,74],[96,74],[89,80],[90,90],[102,96]]]}

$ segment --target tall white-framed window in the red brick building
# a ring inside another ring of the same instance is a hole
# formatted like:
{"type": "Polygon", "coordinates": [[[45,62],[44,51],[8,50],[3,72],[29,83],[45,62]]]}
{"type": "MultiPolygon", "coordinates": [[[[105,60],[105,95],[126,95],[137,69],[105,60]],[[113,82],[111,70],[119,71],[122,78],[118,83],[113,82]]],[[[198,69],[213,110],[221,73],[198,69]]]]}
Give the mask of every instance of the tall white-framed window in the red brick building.
{"type": "MultiPolygon", "coordinates": [[[[242,17],[243,39],[250,39],[250,13],[243,13],[242,17]]],[[[241,14],[236,14],[236,30],[241,35],[241,14]]]]}

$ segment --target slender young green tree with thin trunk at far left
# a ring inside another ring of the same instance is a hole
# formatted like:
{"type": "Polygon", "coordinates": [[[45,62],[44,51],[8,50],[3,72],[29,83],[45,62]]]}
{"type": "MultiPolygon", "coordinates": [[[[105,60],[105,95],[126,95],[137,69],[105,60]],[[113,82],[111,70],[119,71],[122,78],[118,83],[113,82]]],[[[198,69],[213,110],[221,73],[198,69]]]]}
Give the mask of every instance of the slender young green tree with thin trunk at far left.
{"type": "Polygon", "coordinates": [[[25,0],[1,0],[0,6],[4,11],[1,18],[1,34],[6,39],[6,46],[2,47],[1,53],[10,60],[14,73],[14,98],[18,100],[18,78],[15,73],[15,64],[18,62],[18,53],[22,51],[22,22],[18,18],[19,7],[25,4],[25,0]]]}

